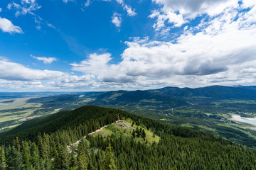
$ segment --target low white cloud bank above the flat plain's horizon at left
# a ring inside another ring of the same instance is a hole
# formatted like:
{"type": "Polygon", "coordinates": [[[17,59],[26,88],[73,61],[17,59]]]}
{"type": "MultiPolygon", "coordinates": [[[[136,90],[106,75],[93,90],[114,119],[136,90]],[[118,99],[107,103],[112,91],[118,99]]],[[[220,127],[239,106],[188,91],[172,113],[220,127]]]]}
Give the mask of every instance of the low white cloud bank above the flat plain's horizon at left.
{"type": "Polygon", "coordinates": [[[53,91],[75,88],[74,90],[78,90],[78,88],[97,86],[94,78],[92,74],[79,77],[59,71],[31,69],[22,64],[10,62],[6,57],[0,57],[0,89],[53,91]]]}

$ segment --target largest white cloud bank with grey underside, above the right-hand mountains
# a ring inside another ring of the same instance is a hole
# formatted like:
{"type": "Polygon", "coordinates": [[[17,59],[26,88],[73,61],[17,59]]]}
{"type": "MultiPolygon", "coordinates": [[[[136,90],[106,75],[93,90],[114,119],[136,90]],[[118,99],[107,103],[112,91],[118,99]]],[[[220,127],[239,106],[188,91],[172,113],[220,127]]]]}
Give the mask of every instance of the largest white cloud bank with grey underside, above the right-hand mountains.
{"type": "Polygon", "coordinates": [[[134,38],[125,42],[122,61],[110,64],[109,53],[92,54],[73,70],[93,74],[106,83],[174,86],[256,83],[256,7],[225,8],[197,28],[186,28],[172,41],[134,38]],[[196,30],[197,31],[195,33],[196,30]]]}

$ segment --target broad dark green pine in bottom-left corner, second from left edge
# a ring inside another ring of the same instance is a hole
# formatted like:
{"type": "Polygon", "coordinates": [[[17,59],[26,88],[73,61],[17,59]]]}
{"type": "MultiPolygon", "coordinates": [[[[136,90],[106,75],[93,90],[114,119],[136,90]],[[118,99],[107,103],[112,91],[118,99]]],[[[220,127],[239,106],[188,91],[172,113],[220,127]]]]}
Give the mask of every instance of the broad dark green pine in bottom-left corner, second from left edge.
{"type": "Polygon", "coordinates": [[[17,152],[14,146],[10,147],[6,153],[6,164],[8,170],[23,169],[21,153],[17,152]]]}

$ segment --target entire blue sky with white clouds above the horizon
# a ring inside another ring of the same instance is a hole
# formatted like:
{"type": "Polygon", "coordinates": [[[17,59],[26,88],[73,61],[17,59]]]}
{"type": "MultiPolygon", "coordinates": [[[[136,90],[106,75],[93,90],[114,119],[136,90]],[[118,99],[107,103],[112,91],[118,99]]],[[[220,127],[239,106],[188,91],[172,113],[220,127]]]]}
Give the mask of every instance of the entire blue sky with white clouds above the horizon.
{"type": "Polygon", "coordinates": [[[256,85],[255,0],[1,0],[0,91],[256,85]]]}

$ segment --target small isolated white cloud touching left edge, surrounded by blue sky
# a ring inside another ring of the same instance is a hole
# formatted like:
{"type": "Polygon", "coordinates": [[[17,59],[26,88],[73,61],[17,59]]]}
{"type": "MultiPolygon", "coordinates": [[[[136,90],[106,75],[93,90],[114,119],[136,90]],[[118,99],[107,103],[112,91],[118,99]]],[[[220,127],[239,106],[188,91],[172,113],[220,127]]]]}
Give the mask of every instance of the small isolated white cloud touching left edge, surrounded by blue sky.
{"type": "Polygon", "coordinates": [[[0,17],[0,29],[4,33],[23,33],[20,27],[14,26],[14,24],[11,23],[11,21],[1,17],[0,17]]]}

